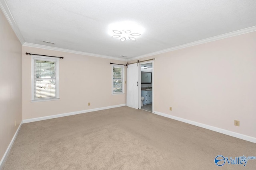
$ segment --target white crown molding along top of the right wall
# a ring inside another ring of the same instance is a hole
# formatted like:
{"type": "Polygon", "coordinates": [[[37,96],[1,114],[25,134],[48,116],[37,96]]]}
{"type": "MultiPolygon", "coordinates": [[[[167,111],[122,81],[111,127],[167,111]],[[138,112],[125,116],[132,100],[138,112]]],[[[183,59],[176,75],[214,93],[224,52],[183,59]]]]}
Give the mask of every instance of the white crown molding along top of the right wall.
{"type": "Polygon", "coordinates": [[[230,32],[230,33],[222,34],[222,35],[217,35],[215,37],[210,37],[210,38],[202,39],[202,40],[199,40],[199,41],[194,41],[192,43],[179,45],[179,46],[176,46],[176,47],[156,51],[156,52],[153,52],[153,53],[148,53],[148,54],[145,54],[145,55],[140,55],[138,57],[130,58],[129,61],[132,61],[132,60],[135,60],[135,59],[141,59],[141,58],[144,58],[144,57],[150,57],[150,56],[153,56],[153,55],[158,55],[158,54],[166,53],[166,52],[169,52],[169,51],[183,49],[183,48],[186,48],[186,47],[192,47],[194,45],[204,44],[204,43],[208,43],[208,42],[211,42],[211,41],[216,41],[216,40],[220,40],[220,39],[224,39],[224,38],[228,38],[228,37],[233,37],[233,36],[236,36],[236,35],[250,33],[250,32],[253,32],[253,31],[256,31],[256,26],[248,27],[248,28],[245,28],[245,29],[240,29],[238,31],[233,31],[233,32],[230,32]]]}

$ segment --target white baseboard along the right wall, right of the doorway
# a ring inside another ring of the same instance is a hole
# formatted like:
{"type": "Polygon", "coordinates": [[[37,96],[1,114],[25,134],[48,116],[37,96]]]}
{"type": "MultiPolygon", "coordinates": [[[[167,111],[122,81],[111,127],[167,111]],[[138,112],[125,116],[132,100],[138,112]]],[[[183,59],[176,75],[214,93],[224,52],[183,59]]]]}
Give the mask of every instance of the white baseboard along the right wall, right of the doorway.
{"type": "Polygon", "coordinates": [[[158,111],[153,111],[153,113],[157,114],[157,115],[160,115],[160,116],[168,117],[170,119],[182,121],[184,123],[188,123],[188,124],[191,124],[191,125],[195,125],[195,126],[198,126],[198,127],[202,127],[202,128],[205,128],[205,129],[209,129],[209,130],[212,130],[212,131],[223,133],[225,135],[229,135],[229,136],[232,136],[232,137],[236,137],[236,138],[239,138],[239,139],[243,139],[243,140],[246,140],[246,141],[249,141],[249,142],[256,143],[256,138],[255,137],[250,137],[250,136],[243,135],[243,134],[240,134],[240,133],[236,133],[236,132],[228,131],[228,130],[221,129],[221,128],[218,128],[218,127],[206,125],[206,124],[203,124],[203,123],[198,123],[196,121],[191,121],[191,120],[188,120],[188,119],[183,119],[183,118],[180,118],[180,117],[168,115],[166,113],[161,113],[161,112],[158,112],[158,111]]]}

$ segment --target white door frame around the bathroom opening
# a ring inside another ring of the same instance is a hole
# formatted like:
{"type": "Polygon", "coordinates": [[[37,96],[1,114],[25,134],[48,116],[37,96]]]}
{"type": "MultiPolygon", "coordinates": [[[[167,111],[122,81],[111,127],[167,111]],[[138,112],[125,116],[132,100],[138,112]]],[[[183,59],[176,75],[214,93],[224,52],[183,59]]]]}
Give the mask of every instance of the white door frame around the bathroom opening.
{"type": "Polygon", "coordinates": [[[139,109],[141,109],[141,65],[152,63],[152,113],[154,113],[154,61],[145,61],[139,63],[139,109]]]}

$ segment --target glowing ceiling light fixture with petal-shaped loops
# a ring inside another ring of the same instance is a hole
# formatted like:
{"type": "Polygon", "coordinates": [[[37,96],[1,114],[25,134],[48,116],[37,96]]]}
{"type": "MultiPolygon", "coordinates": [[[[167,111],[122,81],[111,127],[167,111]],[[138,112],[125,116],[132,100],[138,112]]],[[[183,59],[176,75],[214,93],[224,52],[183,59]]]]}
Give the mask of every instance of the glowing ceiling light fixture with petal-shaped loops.
{"type": "Polygon", "coordinates": [[[108,33],[111,35],[111,37],[118,39],[120,38],[121,42],[124,42],[127,39],[136,41],[136,38],[143,32],[143,27],[130,21],[113,23],[108,26],[108,33]]]}

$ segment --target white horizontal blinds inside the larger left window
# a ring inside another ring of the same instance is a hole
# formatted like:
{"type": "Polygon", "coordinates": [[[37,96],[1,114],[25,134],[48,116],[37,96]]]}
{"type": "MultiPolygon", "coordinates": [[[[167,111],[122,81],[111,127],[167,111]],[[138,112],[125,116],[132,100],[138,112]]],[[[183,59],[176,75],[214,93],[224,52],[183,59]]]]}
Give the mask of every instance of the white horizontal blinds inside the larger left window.
{"type": "Polygon", "coordinates": [[[34,60],[34,100],[56,98],[56,61],[34,60]]]}

